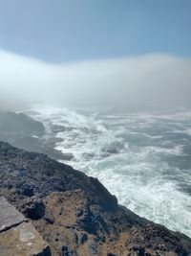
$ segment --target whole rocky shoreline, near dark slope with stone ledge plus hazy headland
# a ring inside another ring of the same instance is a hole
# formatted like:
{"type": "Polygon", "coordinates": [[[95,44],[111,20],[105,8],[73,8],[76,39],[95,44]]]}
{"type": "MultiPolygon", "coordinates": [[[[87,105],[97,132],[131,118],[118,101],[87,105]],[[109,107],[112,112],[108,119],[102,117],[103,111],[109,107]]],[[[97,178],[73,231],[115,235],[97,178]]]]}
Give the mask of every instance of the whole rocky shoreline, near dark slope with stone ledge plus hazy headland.
{"type": "Polygon", "coordinates": [[[0,140],[0,226],[8,226],[0,256],[191,255],[190,238],[138,217],[96,178],[57,162],[72,156],[53,150],[42,123],[0,111],[0,140]],[[23,232],[34,240],[20,241],[23,232]]]}

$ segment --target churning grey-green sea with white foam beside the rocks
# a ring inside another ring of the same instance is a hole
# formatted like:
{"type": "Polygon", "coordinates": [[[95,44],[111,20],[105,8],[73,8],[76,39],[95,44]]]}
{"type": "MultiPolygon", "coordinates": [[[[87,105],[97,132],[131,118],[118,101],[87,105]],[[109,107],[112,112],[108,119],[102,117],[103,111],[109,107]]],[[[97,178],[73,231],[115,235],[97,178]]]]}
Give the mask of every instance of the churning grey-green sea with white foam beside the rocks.
{"type": "Polygon", "coordinates": [[[64,163],[97,177],[139,216],[191,237],[190,109],[32,105],[30,110],[46,136],[57,139],[55,149],[74,155],[64,163]]]}

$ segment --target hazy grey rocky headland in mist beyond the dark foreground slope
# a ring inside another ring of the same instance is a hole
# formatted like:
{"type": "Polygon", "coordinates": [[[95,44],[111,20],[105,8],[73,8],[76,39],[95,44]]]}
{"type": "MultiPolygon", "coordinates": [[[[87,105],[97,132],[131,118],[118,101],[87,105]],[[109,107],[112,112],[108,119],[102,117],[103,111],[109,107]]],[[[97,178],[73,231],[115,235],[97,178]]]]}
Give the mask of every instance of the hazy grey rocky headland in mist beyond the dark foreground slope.
{"type": "Polygon", "coordinates": [[[57,160],[74,157],[53,149],[58,138],[46,137],[43,124],[23,113],[0,111],[0,140],[26,151],[46,153],[57,160]]]}

